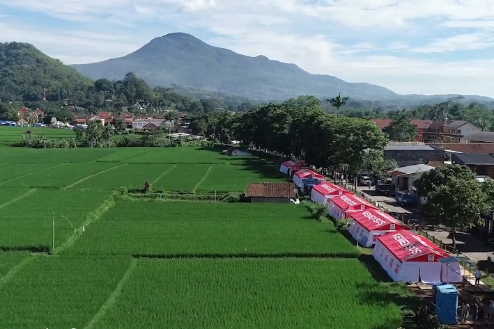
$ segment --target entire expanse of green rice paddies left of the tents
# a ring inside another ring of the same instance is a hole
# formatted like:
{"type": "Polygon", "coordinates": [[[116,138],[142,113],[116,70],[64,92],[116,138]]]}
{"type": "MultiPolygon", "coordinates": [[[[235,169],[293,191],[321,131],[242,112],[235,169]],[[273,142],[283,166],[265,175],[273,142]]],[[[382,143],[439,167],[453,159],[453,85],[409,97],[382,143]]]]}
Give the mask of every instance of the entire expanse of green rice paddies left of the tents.
{"type": "Polygon", "coordinates": [[[0,329],[401,326],[411,293],[329,220],[219,202],[286,179],[221,150],[0,147],[0,329]]]}

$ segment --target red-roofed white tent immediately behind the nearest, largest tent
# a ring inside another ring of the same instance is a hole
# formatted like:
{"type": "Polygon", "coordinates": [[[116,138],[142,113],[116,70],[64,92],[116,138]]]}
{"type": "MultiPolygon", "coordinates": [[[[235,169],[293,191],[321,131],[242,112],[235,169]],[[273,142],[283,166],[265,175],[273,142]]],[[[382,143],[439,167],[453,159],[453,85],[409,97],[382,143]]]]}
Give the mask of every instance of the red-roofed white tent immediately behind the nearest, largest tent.
{"type": "Polygon", "coordinates": [[[360,245],[367,248],[376,244],[378,236],[398,230],[412,229],[378,209],[367,209],[350,214],[348,232],[360,245]]]}

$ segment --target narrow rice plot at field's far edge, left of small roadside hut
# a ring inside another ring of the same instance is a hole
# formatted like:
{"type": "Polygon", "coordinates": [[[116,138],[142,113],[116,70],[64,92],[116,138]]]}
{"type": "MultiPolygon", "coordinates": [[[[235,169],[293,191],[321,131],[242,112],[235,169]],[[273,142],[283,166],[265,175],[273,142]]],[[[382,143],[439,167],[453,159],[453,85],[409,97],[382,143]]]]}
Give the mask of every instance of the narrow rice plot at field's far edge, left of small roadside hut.
{"type": "Polygon", "coordinates": [[[226,163],[228,157],[218,152],[199,150],[196,147],[154,148],[150,153],[132,158],[132,163],[226,163]]]}

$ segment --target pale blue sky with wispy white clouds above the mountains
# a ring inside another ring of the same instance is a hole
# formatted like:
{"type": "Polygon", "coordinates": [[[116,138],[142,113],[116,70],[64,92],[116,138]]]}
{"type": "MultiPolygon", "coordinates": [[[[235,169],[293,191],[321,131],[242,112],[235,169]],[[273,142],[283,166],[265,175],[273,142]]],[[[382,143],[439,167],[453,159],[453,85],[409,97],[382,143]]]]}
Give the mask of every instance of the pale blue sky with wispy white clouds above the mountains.
{"type": "Polygon", "coordinates": [[[400,94],[494,97],[493,0],[0,0],[0,42],[65,64],[173,32],[400,94]]]}

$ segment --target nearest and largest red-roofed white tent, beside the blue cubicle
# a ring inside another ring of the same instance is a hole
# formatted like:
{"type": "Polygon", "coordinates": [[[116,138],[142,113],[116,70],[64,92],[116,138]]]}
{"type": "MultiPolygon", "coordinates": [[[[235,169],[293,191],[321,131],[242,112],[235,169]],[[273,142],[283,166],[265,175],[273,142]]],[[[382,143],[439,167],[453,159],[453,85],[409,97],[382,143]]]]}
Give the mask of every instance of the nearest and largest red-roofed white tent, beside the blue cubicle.
{"type": "Polygon", "coordinates": [[[462,282],[460,264],[442,264],[450,256],[432,241],[412,231],[396,231],[378,237],[373,257],[397,282],[462,282]]]}

